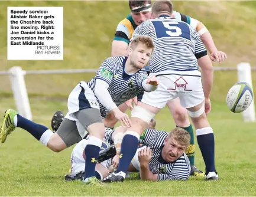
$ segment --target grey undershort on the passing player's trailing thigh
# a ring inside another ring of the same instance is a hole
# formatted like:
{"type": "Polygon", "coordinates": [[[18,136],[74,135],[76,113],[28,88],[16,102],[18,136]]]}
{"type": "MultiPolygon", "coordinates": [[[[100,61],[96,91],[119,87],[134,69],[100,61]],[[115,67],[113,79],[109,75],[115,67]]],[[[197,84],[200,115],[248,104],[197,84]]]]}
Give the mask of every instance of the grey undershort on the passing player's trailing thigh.
{"type": "Polygon", "coordinates": [[[56,134],[58,134],[67,147],[82,140],[82,137],[77,130],[76,122],[66,118],[64,118],[63,122],[60,124],[56,134]]]}

